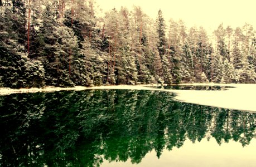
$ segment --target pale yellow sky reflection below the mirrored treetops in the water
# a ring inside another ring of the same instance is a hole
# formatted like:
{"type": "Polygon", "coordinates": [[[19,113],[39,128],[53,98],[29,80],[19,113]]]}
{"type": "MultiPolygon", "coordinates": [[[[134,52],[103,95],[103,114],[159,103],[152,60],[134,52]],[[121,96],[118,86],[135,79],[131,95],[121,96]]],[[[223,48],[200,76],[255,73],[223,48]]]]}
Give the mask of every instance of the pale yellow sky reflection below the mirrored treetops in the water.
{"type": "Polygon", "coordinates": [[[193,144],[186,140],[179,149],[173,148],[171,151],[163,150],[160,159],[156,152],[147,153],[139,164],[132,164],[131,159],[124,162],[109,163],[104,160],[101,166],[207,166],[207,167],[228,167],[228,166],[255,166],[256,162],[256,140],[252,139],[250,145],[241,146],[241,143],[229,141],[221,146],[215,139],[207,141],[202,139],[193,144]]]}

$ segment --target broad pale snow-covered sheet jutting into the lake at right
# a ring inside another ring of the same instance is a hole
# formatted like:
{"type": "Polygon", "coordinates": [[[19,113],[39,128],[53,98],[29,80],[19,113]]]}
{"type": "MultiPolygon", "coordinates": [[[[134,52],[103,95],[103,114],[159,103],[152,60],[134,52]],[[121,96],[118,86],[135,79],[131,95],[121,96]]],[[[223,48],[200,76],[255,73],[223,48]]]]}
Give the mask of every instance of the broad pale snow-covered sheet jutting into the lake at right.
{"type": "Polygon", "coordinates": [[[256,84],[214,84],[214,86],[234,86],[234,88],[229,88],[226,91],[174,90],[177,93],[175,99],[193,104],[256,112],[254,97],[256,84]]]}

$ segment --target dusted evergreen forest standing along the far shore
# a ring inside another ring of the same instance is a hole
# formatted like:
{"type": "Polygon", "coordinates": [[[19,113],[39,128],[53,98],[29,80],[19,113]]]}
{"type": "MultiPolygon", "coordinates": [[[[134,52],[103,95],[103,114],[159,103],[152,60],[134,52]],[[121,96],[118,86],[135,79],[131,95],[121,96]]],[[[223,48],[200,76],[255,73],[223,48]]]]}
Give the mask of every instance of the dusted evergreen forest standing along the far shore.
{"type": "Polygon", "coordinates": [[[213,38],[140,7],[96,17],[93,0],[0,1],[0,86],[255,83],[252,25],[213,38]]]}

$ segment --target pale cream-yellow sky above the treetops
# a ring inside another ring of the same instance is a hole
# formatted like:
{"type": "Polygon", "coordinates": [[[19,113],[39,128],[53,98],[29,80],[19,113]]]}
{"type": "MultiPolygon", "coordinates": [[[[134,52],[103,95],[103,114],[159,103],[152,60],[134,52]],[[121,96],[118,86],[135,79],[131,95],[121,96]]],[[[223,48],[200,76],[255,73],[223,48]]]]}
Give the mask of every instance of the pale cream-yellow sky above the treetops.
{"type": "Polygon", "coordinates": [[[126,6],[132,9],[133,4],[141,6],[144,13],[156,19],[159,9],[162,10],[166,24],[170,18],[181,18],[187,27],[203,26],[215,30],[220,23],[224,27],[242,27],[245,22],[256,29],[255,0],[96,0],[103,11],[113,7],[120,9],[126,6]]]}

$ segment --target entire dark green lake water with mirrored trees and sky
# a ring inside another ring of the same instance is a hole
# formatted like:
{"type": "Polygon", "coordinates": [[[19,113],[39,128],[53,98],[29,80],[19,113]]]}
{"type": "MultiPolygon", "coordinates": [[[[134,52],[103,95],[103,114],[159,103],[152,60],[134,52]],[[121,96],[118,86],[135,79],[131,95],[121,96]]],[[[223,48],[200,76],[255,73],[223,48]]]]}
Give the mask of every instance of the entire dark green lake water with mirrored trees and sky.
{"type": "Polygon", "coordinates": [[[0,166],[255,166],[256,114],[170,92],[0,96],[0,166]]]}

